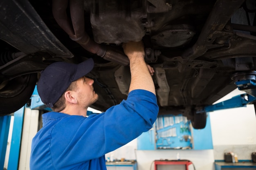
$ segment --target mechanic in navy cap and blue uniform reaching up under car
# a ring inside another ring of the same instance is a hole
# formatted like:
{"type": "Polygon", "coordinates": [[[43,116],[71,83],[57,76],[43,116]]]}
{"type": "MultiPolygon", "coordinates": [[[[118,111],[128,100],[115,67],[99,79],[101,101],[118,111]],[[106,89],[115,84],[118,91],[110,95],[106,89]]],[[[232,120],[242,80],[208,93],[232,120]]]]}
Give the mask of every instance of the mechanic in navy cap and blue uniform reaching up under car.
{"type": "Polygon", "coordinates": [[[78,65],[57,62],[42,72],[38,93],[54,112],[43,114],[43,128],[32,141],[31,170],[106,170],[106,153],[153,126],[158,106],[144,46],[129,42],[123,48],[130,60],[128,97],[99,115],[85,117],[98,99],[94,81],[84,76],[93,68],[91,59],[78,65]]]}

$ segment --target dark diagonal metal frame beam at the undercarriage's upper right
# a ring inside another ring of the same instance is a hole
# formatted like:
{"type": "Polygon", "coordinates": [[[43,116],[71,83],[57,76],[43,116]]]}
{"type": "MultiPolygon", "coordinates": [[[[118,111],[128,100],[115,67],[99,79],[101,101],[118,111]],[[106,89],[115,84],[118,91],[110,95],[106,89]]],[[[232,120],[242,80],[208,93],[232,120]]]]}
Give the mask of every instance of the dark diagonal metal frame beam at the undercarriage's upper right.
{"type": "Polygon", "coordinates": [[[197,42],[191,49],[184,51],[182,58],[193,60],[202,56],[207,52],[207,50],[217,47],[213,46],[214,40],[223,36],[223,34],[229,35],[229,33],[222,31],[222,29],[225,27],[227,22],[229,22],[233,13],[241,7],[243,2],[244,0],[216,0],[197,42]]]}

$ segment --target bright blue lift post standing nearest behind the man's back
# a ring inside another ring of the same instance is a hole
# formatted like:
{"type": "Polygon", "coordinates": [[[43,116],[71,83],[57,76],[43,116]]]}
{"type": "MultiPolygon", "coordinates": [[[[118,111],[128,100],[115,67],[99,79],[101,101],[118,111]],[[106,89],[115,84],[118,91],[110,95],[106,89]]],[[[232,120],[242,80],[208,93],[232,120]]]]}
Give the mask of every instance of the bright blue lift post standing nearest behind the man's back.
{"type": "Polygon", "coordinates": [[[14,112],[13,132],[11,137],[8,170],[18,170],[24,110],[25,106],[14,112]]]}

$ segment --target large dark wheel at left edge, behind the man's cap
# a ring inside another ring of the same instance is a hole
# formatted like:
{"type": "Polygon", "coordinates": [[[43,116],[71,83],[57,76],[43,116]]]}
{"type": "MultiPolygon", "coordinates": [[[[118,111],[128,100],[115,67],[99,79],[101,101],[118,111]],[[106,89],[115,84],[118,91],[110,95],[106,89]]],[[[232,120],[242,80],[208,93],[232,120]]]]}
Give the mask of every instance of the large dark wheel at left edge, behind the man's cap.
{"type": "Polygon", "coordinates": [[[0,82],[0,116],[9,115],[24,106],[36,86],[37,74],[16,77],[0,82]]]}

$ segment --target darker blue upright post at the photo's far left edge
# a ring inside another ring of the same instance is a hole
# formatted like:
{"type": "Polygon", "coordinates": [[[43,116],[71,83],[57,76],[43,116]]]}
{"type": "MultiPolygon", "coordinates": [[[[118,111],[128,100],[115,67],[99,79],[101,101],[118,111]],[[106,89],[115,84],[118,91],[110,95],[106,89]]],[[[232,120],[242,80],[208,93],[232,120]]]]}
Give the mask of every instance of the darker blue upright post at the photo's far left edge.
{"type": "Polygon", "coordinates": [[[0,170],[4,169],[11,115],[0,117],[0,170]]]}

